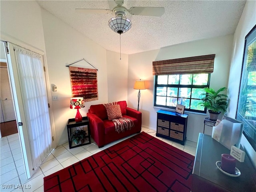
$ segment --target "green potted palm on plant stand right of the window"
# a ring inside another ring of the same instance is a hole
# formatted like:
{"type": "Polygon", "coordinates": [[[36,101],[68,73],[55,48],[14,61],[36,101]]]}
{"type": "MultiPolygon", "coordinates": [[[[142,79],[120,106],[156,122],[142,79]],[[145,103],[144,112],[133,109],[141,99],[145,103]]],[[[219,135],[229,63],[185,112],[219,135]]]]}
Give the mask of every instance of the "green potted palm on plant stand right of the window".
{"type": "Polygon", "coordinates": [[[210,87],[204,88],[204,93],[201,94],[203,98],[199,104],[208,110],[210,120],[217,120],[221,112],[227,112],[228,96],[226,94],[220,94],[220,92],[226,89],[226,87],[222,87],[215,91],[210,87]]]}

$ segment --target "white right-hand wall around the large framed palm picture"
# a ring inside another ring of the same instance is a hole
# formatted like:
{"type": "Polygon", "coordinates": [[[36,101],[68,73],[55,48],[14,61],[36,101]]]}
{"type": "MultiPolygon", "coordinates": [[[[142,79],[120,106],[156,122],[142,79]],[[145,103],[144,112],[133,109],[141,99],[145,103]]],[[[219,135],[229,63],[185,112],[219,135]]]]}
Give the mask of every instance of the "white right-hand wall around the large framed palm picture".
{"type": "MultiPolygon", "coordinates": [[[[230,76],[228,82],[228,96],[230,103],[228,108],[228,116],[235,118],[240,86],[240,74],[242,70],[243,54],[244,54],[244,39],[256,24],[256,1],[247,1],[244,6],[244,11],[236,28],[233,40],[233,54],[230,67],[230,76]]],[[[242,137],[242,146],[246,149],[247,154],[252,159],[256,167],[256,152],[250,146],[246,138],[242,137]]]]}

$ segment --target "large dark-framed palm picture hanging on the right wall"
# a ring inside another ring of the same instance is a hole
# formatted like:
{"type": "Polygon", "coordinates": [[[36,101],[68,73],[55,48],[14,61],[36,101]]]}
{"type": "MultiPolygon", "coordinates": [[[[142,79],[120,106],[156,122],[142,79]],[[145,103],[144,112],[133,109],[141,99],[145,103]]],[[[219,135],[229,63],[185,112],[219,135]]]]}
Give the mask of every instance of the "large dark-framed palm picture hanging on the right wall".
{"type": "Polygon", "coordinates": [[[236,119],[244,122],[243,134],[256,150],[256,25],[244,41],[236,119]]]}

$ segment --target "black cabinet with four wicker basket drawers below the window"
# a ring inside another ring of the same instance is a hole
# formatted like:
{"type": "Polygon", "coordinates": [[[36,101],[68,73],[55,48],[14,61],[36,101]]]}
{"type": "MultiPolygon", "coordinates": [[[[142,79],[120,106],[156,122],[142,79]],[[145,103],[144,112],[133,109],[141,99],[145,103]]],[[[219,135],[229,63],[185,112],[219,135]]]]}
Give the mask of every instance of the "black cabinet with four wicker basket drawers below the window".
{"type": "Polygon", "coordinates": [[[185,144],[188,114],[159,110],[157,112],[156,136],[185,144]]]}

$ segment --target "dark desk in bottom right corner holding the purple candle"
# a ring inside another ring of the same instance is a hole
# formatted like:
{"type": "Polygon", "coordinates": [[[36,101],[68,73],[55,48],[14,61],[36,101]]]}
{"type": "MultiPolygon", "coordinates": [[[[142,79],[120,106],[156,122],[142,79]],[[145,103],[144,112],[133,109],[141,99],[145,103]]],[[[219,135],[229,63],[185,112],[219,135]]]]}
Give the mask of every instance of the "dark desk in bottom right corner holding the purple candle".
{"type": "Polygon", "coordinates": [[[237,161],[239,177],[230,177],[218,170],[216,161],[230,150],[206,134],[199,134],[193,168],[192,192],[256,192],[256,170],[248,156],[243,163],[237,161]]]}

